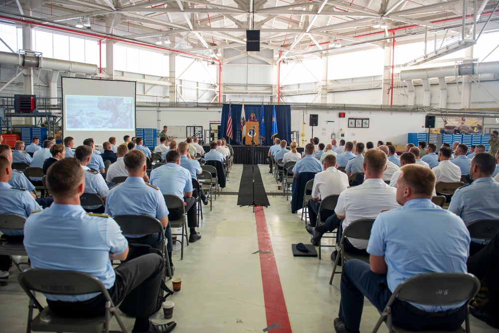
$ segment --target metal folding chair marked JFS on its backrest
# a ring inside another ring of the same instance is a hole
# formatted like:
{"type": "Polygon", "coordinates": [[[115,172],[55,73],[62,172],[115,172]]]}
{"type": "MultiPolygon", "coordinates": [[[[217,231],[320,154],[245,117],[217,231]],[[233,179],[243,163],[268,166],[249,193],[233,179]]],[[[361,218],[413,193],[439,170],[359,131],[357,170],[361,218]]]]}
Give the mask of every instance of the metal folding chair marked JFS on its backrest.
{"type": "MultiPolygon", "coordinates": [[[[417,303],[430,306],[446,306],[452,304],[466,304],[465,330],[460,327],[455,331],[442,332],[470,332],[470,302],[480,289],[480,281],[470,273],[425,273],[413,276],[395,288],[388,303],[380,314],[373,333],[378,332],[385,322],[388,332],[415,332],[399,327],[392,322],[392,305],[395,300],[417,303]]],[[[452,310],[451,310],[452,311],[452,310]]],[[[440,313],[439,313],[440,315],[440,313]]],[[[442,313],[444,318],[445,312],[442,313]]],[[[419,331],[418,331],[419,332],[419,331]]],[[[435,332],[435,331],[432,331],[435,332]]]]}

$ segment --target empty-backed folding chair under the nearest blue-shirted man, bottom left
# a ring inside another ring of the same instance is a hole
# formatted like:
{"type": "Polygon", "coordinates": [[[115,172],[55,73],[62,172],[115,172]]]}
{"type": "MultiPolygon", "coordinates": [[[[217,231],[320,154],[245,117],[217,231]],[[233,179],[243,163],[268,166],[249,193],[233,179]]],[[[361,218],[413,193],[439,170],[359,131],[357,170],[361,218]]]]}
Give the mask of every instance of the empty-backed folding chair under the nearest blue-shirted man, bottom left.
{"type": "Polygon", "coordinates": [[[33,268],[19,275],[19,285],[29,297],[26,332],[109,332],[111,318],[116,318],[122,332],[126,328],[121,321],[106,288],[96,277],[83,272],[33,268]],[[51,295],[84,295],[102,293],[106,299],[105,314],[93,318],[66,318],[55,315],[49,307],[43,308],[34,292],[51,295]],[[33,309],[39,314],[33,319],[33,309]]]}

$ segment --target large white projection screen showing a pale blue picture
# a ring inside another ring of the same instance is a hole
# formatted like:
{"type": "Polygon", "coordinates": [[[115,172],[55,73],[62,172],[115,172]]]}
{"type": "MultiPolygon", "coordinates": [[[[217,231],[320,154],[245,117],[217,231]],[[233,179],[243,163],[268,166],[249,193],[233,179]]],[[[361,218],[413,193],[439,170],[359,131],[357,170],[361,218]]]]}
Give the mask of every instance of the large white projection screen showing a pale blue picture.
{"type": "Polygon", "coordinates": [[[134,81],[74,77],[61,81],[63,135],[73,137],[75,147],[87,138],[102,145],[116,137],[119,145],[123,136],[135,136],[134,81]]]}

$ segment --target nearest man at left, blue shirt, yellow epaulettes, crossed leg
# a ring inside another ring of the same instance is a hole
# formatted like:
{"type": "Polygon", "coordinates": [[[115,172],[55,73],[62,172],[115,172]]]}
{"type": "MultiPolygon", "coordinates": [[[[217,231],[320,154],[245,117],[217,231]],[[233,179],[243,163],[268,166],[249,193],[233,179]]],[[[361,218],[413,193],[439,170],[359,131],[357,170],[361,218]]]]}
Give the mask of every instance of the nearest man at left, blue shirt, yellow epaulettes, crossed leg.
{"type": "MultiPolygon", "coordinates": [[[[85,148],[91,154],[90,148],[85,148]]],[[[87,214],[80,206],[84,173],[75,159],[61,160],[49,168],[47,186],[54,204],[33,213],[24,225],[24,247],[31,267],[92,274],[104,284],[115,304],[138,288],[137,317],[132,332],[173,331],[175,322],[158,325],[149,321],[164,274],[163,258],[150,253],[113,269],[111,260],[126,259],[128,242],[112,218],[87,214]]],[[[45,294],[45,297],[50,310],[64,317],[102,315],[106,303],[102,294],[45,294]]]]}

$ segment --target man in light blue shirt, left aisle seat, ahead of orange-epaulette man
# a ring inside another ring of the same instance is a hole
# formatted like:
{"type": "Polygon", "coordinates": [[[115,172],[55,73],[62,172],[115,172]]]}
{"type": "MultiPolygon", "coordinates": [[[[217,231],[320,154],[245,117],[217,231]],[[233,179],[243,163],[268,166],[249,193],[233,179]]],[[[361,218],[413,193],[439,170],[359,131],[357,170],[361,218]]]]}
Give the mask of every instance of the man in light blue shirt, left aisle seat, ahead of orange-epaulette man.
{"type": "MultiPolygon", "coordinates": [[[[151,171],[151,184],[159,187],[163,194],[173,194],[185,202],[187,224],[189,225],[189,243],[201,239],[201,234],[196,232],[197,211],[196,200],[192,196],[191,173],[180,166],[180,154],[170,151],[166,154],[166,164],[151,171]]],[[[182,215],[180,208],[170,210],[170,220],[176,220],[182,215]]]]}

